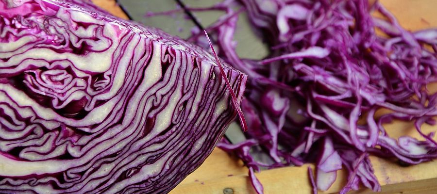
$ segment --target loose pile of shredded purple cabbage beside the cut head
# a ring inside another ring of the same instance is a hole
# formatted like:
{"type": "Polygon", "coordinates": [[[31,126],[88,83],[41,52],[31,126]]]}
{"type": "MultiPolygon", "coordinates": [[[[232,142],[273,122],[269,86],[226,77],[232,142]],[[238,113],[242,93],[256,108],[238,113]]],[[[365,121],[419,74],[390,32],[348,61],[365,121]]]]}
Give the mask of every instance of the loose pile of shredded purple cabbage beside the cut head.
{"type": "MultiPolygon", "coordinates": [[[[241,107],[248,131],[246,141],[218,146],[249,167],[259,194],[253,172],[260,168],[315,162],[315,193],[329,189],[343,168],[349,173],[344,194],[360,184],[381,190],[369,155],[404,164],[437,158],[434,133],[420,129],[437,114],[436,93],[427,90],[436,81],[436,29],[409,32],[368,0],[224,0],[187,9],[225,11],[205,30],[217,40],[218,55],[249,75],[241,107]],[[269,45],[267,59],[238,57],[241,12],[269,45]],[[424,141],[391,138],[383,125],[393,120],[414,122],[424,141]],[[260,151],[269,159],[256,160],[260,151]]],[[[193,32],[188,40],[207,47],[203,33],[193,32]]]]}

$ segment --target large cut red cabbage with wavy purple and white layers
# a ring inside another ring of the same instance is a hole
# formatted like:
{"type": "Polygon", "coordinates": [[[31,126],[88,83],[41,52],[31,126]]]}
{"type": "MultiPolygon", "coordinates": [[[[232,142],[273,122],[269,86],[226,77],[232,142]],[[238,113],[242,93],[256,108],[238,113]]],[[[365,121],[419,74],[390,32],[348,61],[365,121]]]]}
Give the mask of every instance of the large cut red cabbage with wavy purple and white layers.
{"type": "MultiPolygon", "coordinates": [[[[247,76],[224,64],[242,99],[247,76]]],[[[0,0],[0,193],[166,193],[235,118],[214,57],[82,0],[0,0]]]]}

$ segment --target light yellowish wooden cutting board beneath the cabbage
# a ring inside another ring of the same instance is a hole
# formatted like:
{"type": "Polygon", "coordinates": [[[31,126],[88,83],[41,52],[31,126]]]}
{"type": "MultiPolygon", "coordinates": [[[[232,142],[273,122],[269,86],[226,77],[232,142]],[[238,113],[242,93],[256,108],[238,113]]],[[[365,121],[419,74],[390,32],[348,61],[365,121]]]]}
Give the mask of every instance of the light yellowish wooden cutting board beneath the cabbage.
{"type": "MultiPolygon", "coordinates": [[[[93,0],[115,16],[127,18],[115,0],[93,0]]],[[[437,0],[380,0],[408,30],[437,27],[437,0]]],[[[437,90],[437,84],[431,89],[437,90]]],[[[410,135],[420,137],[413,123],[395,122],[386,125],[392,137],[410,135]]],[[[437,127],[423,126],[423,131],[437,127]]],[[[421,138],[419,138],[421,139],[421,138]]],[[[437,139],[437,138],[436,138],[437,139]]],[[[382,185],[381,194],[437,194],[437,161],[401,167],[384,159],[370,157],[375,175],[382,185]]],[[[307,165],[262,171],[257,174],[266,194],[310,194],[307,165]]],[[[311,166],[311,165],[310,165],[311,166]]],[[[242,162],[216,148],[194,173],[182,181],[170,194],[253,194],[248,169],[242,162]]],[[[342,171],[329,191],[338,193],[345,184],[347,174],[342,171]]],[[[368,189],[351,194],[369,194],[368,189]]]]}

